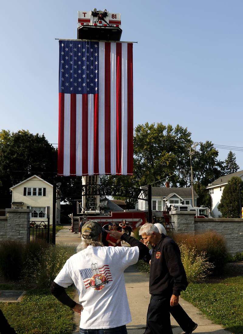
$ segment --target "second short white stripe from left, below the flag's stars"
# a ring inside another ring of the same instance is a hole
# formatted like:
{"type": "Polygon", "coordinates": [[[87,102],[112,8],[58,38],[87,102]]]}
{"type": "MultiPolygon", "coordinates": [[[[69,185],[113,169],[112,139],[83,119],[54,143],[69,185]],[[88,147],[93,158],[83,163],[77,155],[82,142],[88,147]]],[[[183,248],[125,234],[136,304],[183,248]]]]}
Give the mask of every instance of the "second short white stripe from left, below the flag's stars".
{"type": "Polygon", "coordinates": [[[82,95],[76,95],[76,174],[82,176],[82,95]]]}

